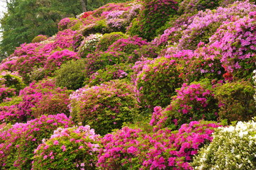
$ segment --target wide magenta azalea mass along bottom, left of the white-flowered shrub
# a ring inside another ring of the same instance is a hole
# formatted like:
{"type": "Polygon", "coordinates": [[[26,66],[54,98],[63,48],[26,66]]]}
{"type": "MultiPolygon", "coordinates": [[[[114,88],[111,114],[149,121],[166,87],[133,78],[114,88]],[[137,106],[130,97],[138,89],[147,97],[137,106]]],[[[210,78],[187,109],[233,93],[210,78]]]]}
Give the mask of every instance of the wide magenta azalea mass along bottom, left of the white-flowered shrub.
{"type": "Polygon", "coordinates": [[[213,137],[219,125],[191,122],[172,132],[168,128],[145,133],[124,127],[102,139],[99,169],[192,169],[189,164],[199,148],[213,137]]]}

